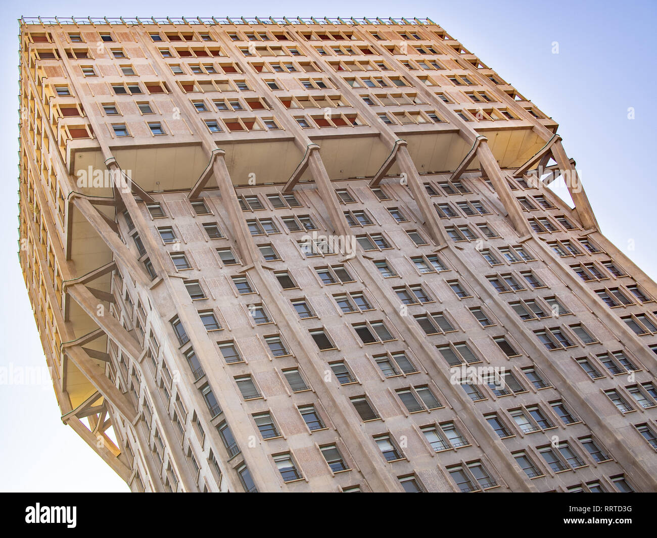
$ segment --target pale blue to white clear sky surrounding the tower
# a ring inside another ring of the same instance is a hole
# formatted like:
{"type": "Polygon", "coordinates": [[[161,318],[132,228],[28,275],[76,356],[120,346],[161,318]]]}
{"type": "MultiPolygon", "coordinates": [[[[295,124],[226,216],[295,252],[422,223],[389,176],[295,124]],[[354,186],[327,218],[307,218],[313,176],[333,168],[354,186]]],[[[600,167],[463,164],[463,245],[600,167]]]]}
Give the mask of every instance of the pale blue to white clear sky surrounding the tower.
{"type": "MultiPolygon", "coordinates": [[[[649,1],[187,0],[9,2],[0,8],[0,367],[41,367],[18,258],[18,24],[24,16],[428,17],[499,72],[560,124],[602,233],[657,278],[654,135],[657,3],[649,1]],[[461,9],[463,6],[463,11],[461,9]],[[53,9],[57,7],[57,12],[53,9]],[[102,11],[98,11],[98,7],[102,11]],[[309,9],[328,9],[315,12],[309,9]],[[181,12],[181,9],[183,11],[181,12]],[[91,10],[91,11],[90,11],[91,10]],[[242,11],[240,11],[242,10],[242,11]],[[554,43],[558,54],[554,54],[554,43]],[[635,119],[628,119],[628,108],[635,119]],[[650,166],[648,166],[650,165],[650,166]],[[631,242],[634,250],[628,250],[631,242]]],[[[0,385],[0,491],[127,491],[127,486],[60,420],[49,382],[0,385]]]]}

